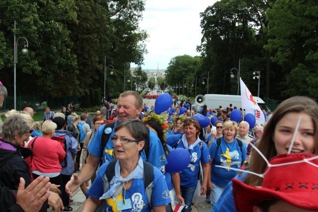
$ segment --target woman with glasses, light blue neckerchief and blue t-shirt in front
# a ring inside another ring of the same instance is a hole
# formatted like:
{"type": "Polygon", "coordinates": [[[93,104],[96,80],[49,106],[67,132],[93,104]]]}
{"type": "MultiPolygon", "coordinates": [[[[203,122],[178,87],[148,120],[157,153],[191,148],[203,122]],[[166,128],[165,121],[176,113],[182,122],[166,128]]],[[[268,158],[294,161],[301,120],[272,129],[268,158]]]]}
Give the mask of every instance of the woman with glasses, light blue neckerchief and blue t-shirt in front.
{"type": "MultiPolygon", "coordinates": [[[[98,171],[97,177],[87,192],[88,199],[84,203],[83,212],[95,211],[105,202],[105,211],[136,211],[150,212],[149,199],[145,190],[144,167],[150,164],[143,162],[140,153],[148,140],[148,131],[139,120],[123,120],[114,128],[114,142],[116,158],[114,176],[106,192],[103,190],[103,177],[112,162],[104,163],[98,171]]],[[[154,212],[164,212],[165,204],[171,202],[169,192],[162,173],[158,168],[150,166],[154,174],[152,180],[151,204],[154,212]]],[[[106,178],[107,179],[107,178],[106,178]]]]}

